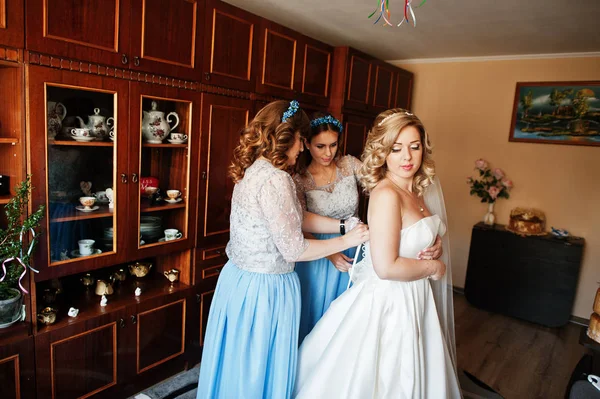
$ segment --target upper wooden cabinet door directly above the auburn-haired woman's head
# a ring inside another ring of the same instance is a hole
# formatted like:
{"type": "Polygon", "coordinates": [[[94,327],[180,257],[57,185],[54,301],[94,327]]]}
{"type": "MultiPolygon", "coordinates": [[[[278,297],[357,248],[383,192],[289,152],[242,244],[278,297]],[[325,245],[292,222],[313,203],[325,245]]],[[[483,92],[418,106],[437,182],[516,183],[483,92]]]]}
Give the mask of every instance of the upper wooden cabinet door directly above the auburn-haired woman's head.
{"type": "Polygon", "coordinates": [[[263,19],[259,38],[260,75],[256,91],[293,99],[296,73],[302,68],[301,35],[263,19]]]}

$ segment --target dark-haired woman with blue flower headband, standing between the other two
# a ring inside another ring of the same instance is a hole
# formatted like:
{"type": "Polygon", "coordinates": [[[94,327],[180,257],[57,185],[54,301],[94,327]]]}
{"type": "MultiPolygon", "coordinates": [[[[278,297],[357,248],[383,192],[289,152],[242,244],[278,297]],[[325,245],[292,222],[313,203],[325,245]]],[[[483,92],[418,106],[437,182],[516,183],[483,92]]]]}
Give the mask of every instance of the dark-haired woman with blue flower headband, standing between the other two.
{"type": "MultiPolygon", "coordinates": [[[[339,151],[342,124],[331,115],[317,114],[311,122],[305,151],[296,164],[294,175],[300,204],[305,211],[330,218],[348,220],[358,214],[358,177],[361,162],[339,151]]],[[[340,237],[313,234],[318,240],[340,237]]],[[[299,343],[348,286],[348,269],[355,248],[326,258],[296,264],[302,293],[299,343]]]]}

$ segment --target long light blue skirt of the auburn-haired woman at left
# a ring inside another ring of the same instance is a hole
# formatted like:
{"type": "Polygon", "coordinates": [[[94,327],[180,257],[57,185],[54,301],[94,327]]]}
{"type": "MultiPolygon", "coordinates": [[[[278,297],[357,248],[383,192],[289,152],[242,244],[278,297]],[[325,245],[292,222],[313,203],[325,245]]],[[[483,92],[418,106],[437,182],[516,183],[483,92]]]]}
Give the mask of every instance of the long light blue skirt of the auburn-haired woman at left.
{"type": "Polygon", "coordinates": [[[290,398],[296,378],[300,283],[228,262],[204,338],[197,399],[290,398]]]}

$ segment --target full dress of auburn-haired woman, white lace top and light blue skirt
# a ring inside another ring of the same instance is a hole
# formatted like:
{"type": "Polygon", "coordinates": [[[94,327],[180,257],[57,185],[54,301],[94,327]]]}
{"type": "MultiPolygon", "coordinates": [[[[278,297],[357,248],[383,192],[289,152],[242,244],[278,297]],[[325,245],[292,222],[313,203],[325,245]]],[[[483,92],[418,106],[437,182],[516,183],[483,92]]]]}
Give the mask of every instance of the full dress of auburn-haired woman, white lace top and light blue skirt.
{"type": "Polygon", "coordinates": [[[235,185],[229,262],[208,316],[198,399],[287,399],[296,376],[306,250],[291,176],[258,160],[235,185]]]}

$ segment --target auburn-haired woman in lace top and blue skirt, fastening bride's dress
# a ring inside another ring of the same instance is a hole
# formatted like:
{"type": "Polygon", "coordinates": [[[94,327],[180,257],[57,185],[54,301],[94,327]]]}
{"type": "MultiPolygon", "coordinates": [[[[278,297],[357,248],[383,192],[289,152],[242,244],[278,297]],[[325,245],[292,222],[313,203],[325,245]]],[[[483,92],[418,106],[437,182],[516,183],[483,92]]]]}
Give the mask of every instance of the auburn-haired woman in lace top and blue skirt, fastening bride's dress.
{"type": "Polygon", "coordinates": [[[336,231],[339,221],[303,221],[287,170],[302,152],[309,119],[296,101],[275,101],[242,130],[230,176],[229,261],[208,316],[197,398],[286,399],[298,354],[300,283],[294,262],[319,259],[368,240],[359,225],[344,237],[305,239],[302,228],[336,231]],[[303,226],[304,224],[304,226],[303,226]]]}

